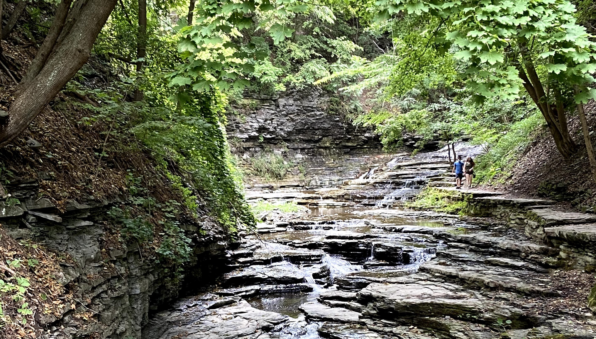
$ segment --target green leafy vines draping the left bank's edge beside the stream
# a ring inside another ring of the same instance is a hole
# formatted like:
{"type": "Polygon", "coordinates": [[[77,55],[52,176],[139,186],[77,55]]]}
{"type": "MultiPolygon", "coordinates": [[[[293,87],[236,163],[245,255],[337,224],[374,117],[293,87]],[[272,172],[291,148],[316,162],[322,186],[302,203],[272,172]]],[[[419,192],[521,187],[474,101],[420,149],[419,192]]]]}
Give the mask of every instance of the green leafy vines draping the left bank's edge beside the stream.
{"type": "Polygon", "coordinates": [[[142,111],[145,122],[132,130],[154,150],[173,187],[181,191],[185,206],[191,210],[204,206],[230,230],[240,223],[252,224],[252,214],[238,198],[242,194],[222,127],[225,98],[215,90],[179,93],[176,97],[179,102],[184,100],[184,105],[173,105],[175,102],[164,98],[167,92],[158,88],[145,95],[148,99],[156,95],[156,102],[163,100],[172,106],[142,111]],[[172,163],[182,169],[176,175],[172,163]]]}

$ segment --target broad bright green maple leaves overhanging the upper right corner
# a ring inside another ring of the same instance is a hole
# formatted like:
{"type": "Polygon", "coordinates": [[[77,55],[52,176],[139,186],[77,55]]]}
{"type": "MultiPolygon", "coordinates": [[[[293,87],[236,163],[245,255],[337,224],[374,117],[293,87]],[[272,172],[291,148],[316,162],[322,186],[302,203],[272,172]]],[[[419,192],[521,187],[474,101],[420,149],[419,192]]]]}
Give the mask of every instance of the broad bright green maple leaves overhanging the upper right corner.
{"type": "MultiPolygon", "coordinates": [[[[426,1],[381,0],[380,17],[404,11],[421,20],[439,18],[434,41],[457,50],[465,63],[467,86],[481,97],[516,98],[520,64],[536,67],[544,83],[569,93],[573,85],[594,82],[596,43],[576,23],[568,0],[426,1]]],[[[594,98],[584,89],[576,100],[594,98]]]]}

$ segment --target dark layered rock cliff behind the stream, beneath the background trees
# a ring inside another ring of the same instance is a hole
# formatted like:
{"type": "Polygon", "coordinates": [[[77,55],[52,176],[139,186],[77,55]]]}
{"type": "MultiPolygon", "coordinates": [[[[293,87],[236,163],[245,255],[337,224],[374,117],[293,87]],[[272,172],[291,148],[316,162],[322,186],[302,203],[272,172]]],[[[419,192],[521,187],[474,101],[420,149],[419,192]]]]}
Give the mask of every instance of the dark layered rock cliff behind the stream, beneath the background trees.
{"type": "Polygon", "coordinates": [[[249,94],[227,114],[232,152],[247,157],[271,150],[301,158],[379,150],[378,136],[353,126],[342,107],[342,98],[316,87],[249,94]]]}

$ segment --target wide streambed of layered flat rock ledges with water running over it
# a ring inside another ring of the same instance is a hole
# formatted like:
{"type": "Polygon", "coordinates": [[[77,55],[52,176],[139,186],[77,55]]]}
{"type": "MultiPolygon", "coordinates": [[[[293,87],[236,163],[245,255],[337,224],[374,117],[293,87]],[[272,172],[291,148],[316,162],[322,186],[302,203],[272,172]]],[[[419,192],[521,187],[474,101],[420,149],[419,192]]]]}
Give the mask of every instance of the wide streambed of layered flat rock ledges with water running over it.
{"type": "Polygon", "coordinates": [[[594,276],[562,269],[558,248],[488,217],[378,204],[409,188],[400,176],[448,183],[433,181],[447,167],[401,159],[338,188],[249,193],[309,213],[259,225],[218,285],[154,315],[143,338],[596,337],[594,276]]]}

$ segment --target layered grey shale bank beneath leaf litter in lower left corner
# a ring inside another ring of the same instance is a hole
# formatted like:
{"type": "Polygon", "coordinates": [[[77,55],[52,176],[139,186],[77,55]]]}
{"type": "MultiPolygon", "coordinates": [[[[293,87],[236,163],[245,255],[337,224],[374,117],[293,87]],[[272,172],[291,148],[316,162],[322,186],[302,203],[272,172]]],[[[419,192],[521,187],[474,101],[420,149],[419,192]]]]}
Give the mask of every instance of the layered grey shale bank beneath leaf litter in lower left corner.
{"type": "MultiPolygon", "coordinates": [[[[48,293],[42,303],[58,303],[61,311],[44,312],[42,304],[30,302],[35,325],[46,329],[38,337],[140,339],[147,335],[142,328],[152,310],[179,297],[181,291],[191,290],[189,285],[209,284],[210,273],[225,266],[222,260],[231,241],[208,220],[181,225],[192,240],[193,251],[184,267],[186,276],[178,276],[138,242],[127,245],[119,240],[122,225],[108,214],[111,207],[121,206],[119,198],[69,200],[61,211],[51,200],[38,198],[36,179],[13,181],[6,189],[20,204],[0,203],[2,229],[20,244],[39,245],[42,251],[58,254],[60,267],[54,276],[60,287],[54,290],[61,293],[48,293]]],[[[44,268],[32,270],[38,276],[44,272],[44,268]]]]}

